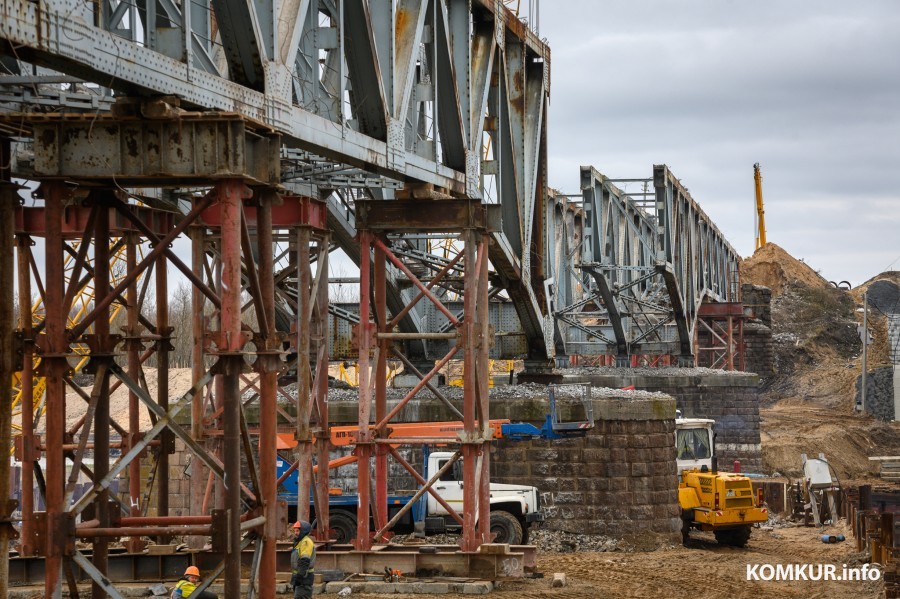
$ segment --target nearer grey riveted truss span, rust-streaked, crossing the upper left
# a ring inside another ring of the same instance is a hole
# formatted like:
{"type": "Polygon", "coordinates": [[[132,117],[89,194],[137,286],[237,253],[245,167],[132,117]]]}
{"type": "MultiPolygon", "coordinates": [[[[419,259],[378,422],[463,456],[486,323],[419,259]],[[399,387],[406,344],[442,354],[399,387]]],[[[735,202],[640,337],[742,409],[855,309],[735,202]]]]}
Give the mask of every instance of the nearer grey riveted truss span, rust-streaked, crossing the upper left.
{"type": "MultiPolygon", "coordinates": [[[[302,195],[357,187],[393,199],[405,187],[416,198],[498,203],[491,262],[529,353],[552,355],[543,287],[550,50],[526,24],[496,0],[183,6],[0,1],[0,72],[10,82],[0,76],[0,106],[96,112],[110,107],[105,89],[165,94],[280,133],[283,182],[302,195]],[[29,74],[28,63],[43,68],[29,74]],[[75,89],[79,80],[95,85],[75,89]]],[[[0,130],[17,132],[14,121],[0,130]]],[[[414,330],[415,318],[404,327],[414,330]]]]}

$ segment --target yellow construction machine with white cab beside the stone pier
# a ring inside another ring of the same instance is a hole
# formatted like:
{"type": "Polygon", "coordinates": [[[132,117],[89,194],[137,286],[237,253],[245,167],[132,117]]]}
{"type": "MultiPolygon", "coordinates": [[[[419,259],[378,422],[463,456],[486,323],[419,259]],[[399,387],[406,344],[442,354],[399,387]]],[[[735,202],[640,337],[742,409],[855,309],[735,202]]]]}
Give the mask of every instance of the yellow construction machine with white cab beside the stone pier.
{"type": "Polygon", "coordinates": [[[706,418],[675,421],[682,540],[687,544],[696,528],[712,531],[723,545],[743,547],[752,526],[766,522],[769,512],[762,489],[754,494],[748,477],[718,471],[713,424],[706,418]]]}

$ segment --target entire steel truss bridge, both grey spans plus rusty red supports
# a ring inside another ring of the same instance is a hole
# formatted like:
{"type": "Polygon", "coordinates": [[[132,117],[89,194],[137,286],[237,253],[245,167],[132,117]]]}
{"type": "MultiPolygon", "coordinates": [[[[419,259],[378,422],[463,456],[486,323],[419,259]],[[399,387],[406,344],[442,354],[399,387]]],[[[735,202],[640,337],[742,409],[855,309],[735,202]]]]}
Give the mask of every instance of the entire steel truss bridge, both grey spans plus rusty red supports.
{"type": "MultiPolygon", "coordinates": [[[[465,425],[456,439],[465,509],[452,515],[472,552],[491,538],[489,355],[533,366],[566,354],[687,360],[701,305],[736,299],[736,252],[665,166],[654,167],[642,194],[590,168],[579,199],[548,189],[550,50],[497,0],[0,0],[0,55],[0,342],[18,361],[2,364],[0,392],[13,369],[27,372],[40,357],[44,436],[23,423],[19,456],[33,466],[24,485],[38,481],[47,510],[23,509],[20,546],[46,560],[48,597],[60,596],[70,563],[94,596],[119,596],[106,575],[108,540],[131,536],[138,551],[142,536],[173,535],[211,536],[224,556],[211,570],[224,576],[226,596],[241,592],[241,553],[252,547],[254,596],[274,596],[274,432],[285,426],[300,445],[300,487],[322,498],[318,533],[329,534],[328,477],[312,473],[313,461],[327,461],[329,311],[355,325],[349,351],[371,364],[360,394],[356,548],[389,534],[389,455],[411,468],[382,443],[398,408],[387,408],[381,373],[387,356],[400,354],[420,387],[437,358],[467,365],[456,412],[465,425]],[[18,179],[40,185],[34,206],[19,206],[18,179]],[[190,264],[170,247],[183,234],[190,264]],[[34,238],[43,240],[43,270],[34,238]],[[111,239],[131,248],[121,278],[103,267],[111,239]],[[138,260],[141,246],[148,252],[138,260]],[[336,247],[360,267],[356,316],[328,309],[323,273],[336,247]],[[74,273],[64,272],[64,255],[74,273]],[[187,334],[173,331],[162,309],[169,267],[191,281],[196,307],[195,384],[179,398],[164,384],[170,342],[187,334]],[[142,314],[147,284],[138,281],[154,268],[157,311],[142,314]],[[73,282],[85,278],[93,309],[67,322],[73,282]],[[15,280],[23,309],[32,282],[46,308],[41,322],[20,318],[17,332],[15,280]],[[114,305],[128,312],[122,335],[110,330],[114,305]],[[82,397],[87,416],[66,429],[75,346],[89,348],[95,383],[82,397]],[[161,364],[155,398],[142,383],[151,354],[161,364]],[[291,413],[276,403],[286,360],[300,389],[291,413]],[[111,386],[130,393],[127,425],[110,420],[111,386]],[[135,424],[140,406],[151,430],[135,424]],[[189,430],[176,419],[182,409],[189,430]],[[121,438],[114,464],[98,457],[110,431],[121,438]],[[150,515],[135,503],[136,464],[148,451],[165,464],[176,438],[202,473],[190,481],[190,514],[170,516],[159,492],[150,515]],[[91,448],[93,470],[77,457],[91,448]],[[247,485],[237,482],[242,460],[247,485]],[[74,504],[72,467],[95,485],[74,504]],[[126,471],[130,505],[107,491],[126,471]],[[76,538],[90,540],[89,556],[76,538]]],[[[0,428],[10,425],[0,410],[0,428]]],[[[6,433],[0,453],[9,452],[4,443],[6,433]]],[[[0,466],[0,496],[7,482],[0,466]]],[[[308,495],[298,507],[309,513],[308,495]]],[[[11,510],[0,505],[0,520],[11,510]]],[[[11,534],[0,526],[0,544],[11,534]]],[[[0,594],[7,580],[0,571],[0,594]]]]}

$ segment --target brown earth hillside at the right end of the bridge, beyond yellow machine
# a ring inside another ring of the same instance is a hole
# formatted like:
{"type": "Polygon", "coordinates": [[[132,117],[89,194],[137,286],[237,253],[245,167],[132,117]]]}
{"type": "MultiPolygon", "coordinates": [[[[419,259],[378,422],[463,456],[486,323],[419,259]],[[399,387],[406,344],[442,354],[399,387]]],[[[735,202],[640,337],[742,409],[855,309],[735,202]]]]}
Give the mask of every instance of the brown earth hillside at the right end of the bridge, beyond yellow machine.
{"type": "MultiPolygon", "coordinates": [[[[900,282],[900,273],[839,289],[769,243],[744,261],[741,278],[772,290],[774,372],[763,376],[760,406],[766,470],[799,476],[801,454],[823,453],[842,479],[872,478],[869,457],[900,454],[900,423],[856,409],[862,297],[878,281],[900,282]]],[[[890,361],[886,320],[870,303],[870,372],[890,361]]]]}

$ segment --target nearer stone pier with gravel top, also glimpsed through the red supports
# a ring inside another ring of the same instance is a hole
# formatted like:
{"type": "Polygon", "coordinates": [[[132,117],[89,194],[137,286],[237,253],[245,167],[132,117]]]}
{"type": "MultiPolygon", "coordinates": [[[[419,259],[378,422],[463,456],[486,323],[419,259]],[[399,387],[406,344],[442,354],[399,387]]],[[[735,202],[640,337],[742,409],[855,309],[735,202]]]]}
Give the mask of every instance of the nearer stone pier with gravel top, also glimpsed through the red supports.
{"type": "MultiPolygon", "coordinates": [[[[545,387],[497,391],[492,390],[491,418],[543,424],[549,411],[545,387]]],[[[451,396],[452,393],[448,392],[451,396]]],[[[545,526],[552,530],[603,534],[645,546],[677,542],[681,525],[675,466],[675,400],[661,393],[615,389],[595,388],[593,393],[594,428],[585,437],[495,442],[492,480],[537,487],[545,526]]],[[[458,398],[452,399],[458,403],[458,398]]],[[[396,400],[389,399],[388,403],[392,407],[396,400]]],[[[358,404],[352,400],[332,401],[329,412],[332,424],[352,424],[358,404]]],[[[450,419],[453,416],[439,401],[422,399],[401,410],[397,422],[450,419]]],[[[172,457],[170,468],[172,514],[187,513],[190,501],[190,480],[184,475],[187,454],[181,444],[177,447],[178,457],[172,457]],[[176,499],[176,495],[181,498],[176,499]]],[[[332,457],[348,452],[340,449],[332,457]]],[[[419,448],[408,448],[404,453],[411,464],[421,465],[419,448]]],[[[412,478],[393,460],[390,462],[390,489],[414,488],[412,478]]],[[[355,467],[333,471],[330,484],[354,492],[355,467]]]]}

